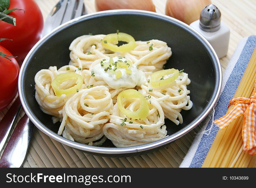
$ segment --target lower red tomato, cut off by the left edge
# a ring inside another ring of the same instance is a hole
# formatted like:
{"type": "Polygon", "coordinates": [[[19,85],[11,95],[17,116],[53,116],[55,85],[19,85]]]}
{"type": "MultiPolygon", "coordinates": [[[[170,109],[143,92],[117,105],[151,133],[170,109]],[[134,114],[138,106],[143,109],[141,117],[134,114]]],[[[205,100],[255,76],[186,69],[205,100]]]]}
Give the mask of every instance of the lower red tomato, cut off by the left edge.
{"type": "MultiPolygon", "coordinates": [[[[0,52],[13,56],[3,46],[0,52]]],[[[19,65],[14,57],[8,58],[11,61],[0,56],[0,111],[12,102],[18,90],[19,65]]]]}

